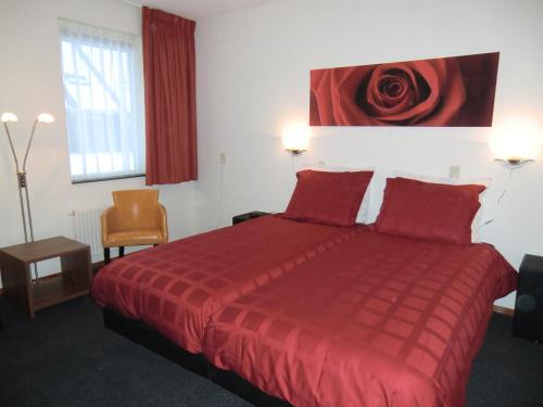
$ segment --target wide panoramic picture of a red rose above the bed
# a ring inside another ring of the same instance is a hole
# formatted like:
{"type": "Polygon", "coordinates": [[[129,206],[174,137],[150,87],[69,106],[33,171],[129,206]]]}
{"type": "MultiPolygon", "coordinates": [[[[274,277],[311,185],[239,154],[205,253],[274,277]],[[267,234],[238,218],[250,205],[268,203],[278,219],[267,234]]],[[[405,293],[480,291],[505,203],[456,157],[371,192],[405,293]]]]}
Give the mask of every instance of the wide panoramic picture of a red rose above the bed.
{"type": "Polygon", "coordinates": [[[492,126],[500,52],[311,72],[311,126],[492,126]]]}

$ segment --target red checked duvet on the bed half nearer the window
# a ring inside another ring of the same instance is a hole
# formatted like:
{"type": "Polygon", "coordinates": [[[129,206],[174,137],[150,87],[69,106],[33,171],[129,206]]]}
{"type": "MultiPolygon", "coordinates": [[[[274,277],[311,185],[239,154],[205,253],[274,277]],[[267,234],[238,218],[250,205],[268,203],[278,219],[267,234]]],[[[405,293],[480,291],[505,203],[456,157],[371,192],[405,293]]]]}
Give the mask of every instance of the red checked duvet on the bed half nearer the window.
{"type": "Polygon", "coordinates": [[[94,278],[92,296],[198,353],[213,311],[361,228],[261,217],[116,259],[94,278]]]}

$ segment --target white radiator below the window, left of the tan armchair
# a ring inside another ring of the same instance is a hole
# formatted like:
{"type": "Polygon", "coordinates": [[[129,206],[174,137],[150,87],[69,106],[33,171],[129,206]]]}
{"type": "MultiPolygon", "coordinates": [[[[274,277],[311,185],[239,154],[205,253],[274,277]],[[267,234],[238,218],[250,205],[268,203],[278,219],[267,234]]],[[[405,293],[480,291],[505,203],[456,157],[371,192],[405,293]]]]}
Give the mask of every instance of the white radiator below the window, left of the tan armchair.
{"type": "Polygon", "coordinates": [[[90,246],[92,260],[102,258],[102,237],[100,232],[100,216],[104,208],[74,209],[70,213],[73,217],[74,239],[90,246]]]}

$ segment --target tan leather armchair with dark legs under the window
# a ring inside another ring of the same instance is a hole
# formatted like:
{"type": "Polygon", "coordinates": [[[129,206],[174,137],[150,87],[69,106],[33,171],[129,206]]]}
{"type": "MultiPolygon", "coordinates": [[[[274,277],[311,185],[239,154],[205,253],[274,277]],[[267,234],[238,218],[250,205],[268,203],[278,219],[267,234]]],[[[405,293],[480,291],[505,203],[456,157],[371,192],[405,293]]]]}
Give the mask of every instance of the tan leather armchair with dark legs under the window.
{"type": "Polygon", "coordinates": [[[159,203],[159,191],[152,189],[112,192],[113,203],[102,213],[102,245],[104,264],[110,263],[110,247],[139,246],[168,241],[166,209],[159,203]]]}

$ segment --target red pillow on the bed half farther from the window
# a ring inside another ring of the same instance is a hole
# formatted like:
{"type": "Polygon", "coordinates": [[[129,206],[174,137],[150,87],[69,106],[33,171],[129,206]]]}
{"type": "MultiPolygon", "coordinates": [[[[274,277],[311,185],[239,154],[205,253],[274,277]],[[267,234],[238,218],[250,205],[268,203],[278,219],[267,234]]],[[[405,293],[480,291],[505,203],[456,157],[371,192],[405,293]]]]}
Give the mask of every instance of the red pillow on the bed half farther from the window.
{"type": "Polygon", "coordinates": [[[471,221],[484,186],[450,186],[388,178],[376,228],[438,242],[471,243],[471,221]]]}

